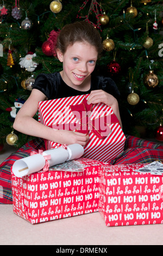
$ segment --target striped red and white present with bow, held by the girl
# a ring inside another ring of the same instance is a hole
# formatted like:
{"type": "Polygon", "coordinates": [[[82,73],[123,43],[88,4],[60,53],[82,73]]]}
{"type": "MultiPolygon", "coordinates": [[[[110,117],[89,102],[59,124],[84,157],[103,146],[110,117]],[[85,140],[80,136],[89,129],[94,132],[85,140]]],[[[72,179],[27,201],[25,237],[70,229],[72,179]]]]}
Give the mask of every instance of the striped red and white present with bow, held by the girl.
{"type": "MultiPolygon", "coordinates": [[[[87,104],[89,94],[39,102],[39,121],[59,130],[89,134],[83,157],[108,162],[122,153],[126,137],[111,107],[87,104]]],[[[60,147],[45,141],[46,149],[60,147]]]]}

